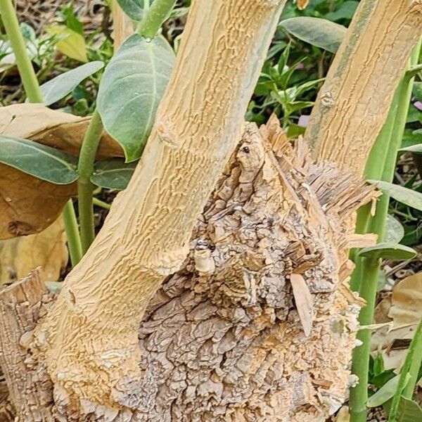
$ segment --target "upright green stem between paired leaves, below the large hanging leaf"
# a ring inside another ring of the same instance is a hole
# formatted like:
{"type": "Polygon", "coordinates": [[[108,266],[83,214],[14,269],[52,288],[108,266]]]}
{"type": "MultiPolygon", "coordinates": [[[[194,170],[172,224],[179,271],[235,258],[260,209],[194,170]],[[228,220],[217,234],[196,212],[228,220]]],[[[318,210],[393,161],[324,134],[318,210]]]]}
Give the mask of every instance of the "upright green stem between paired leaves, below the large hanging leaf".
{"type": "Polygon", "coordinates": [[[79,225],[83,253],[87,252],[95,237],[94,210],[92,206],[94,185],[91,183],[91,175],[94,172],[96,151],[102,134],[103,124],[101,117],[98,111],[95,110],[91,122],[89,122],[87,132],[85,132],[84,141],[82,141],[77,166],[79,174],[79,179],[77,180],[79,225]]]}

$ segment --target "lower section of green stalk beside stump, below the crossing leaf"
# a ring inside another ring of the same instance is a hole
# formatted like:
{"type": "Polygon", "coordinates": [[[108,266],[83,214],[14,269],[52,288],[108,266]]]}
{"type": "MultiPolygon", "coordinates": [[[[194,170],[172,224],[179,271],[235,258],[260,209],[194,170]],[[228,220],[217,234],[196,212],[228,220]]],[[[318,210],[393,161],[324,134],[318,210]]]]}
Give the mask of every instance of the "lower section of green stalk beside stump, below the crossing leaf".
{"type": "MultiPolygon", "coordinates": [[[[365,279],[364,283],[362,283],[360,295],[362,298],[366,298],[366,307],[359,314],[359,324],[361,326],[372,324],[380,264],[379,260],[371,258],[363,258],[362,260],[362,274],[365,274],[365,279]]],[[[350,421],[366,422],[371,330],[359,331],[357,340],[360,340],[362,345],[355,347],[353,350],[352,372],[359,377],[359,383],[350,390],[350,421]]]]}

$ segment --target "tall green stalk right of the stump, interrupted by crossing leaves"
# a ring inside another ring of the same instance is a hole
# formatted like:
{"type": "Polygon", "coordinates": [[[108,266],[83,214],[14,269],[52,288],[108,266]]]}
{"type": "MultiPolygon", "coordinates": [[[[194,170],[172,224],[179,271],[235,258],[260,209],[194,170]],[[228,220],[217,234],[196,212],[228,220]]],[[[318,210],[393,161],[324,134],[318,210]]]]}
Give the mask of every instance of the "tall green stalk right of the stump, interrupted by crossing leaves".
{"type": "MultiPolygon", "coordinates": [[[[417,63],[420,47],[420,44],[418,44],[414,49],[411,64],[417,63]]],[[[408,77],[403,77],[399,87],[397,87],[388,118],[366,163],[366,177],[392,181],[396,167],[397,150],[402,142],[402,134],[406,124],[412,86],[413,81],[408,77]]],[[[357,226],[362,232],[378,234],[378,242],[382,242],[385,236],[389,202],[390,198],[384,194],[378,201],[374,217],[371,217],[369,207],[364,208],[359,213],[357,226]]],[[[366,326],[372,324],[373,321],[381,260],[357,257],[355,264],[356,268],[352,275],[351,287],[359,291],[359,295],[366,300],[366,306],[362,308],[359,314],[359,324],[366,326]]],[[[350,390],[350,422],[365,422],[371,331],[365,329],[359,331],[357,339],[362,342],[362,345],[355,347],[353,351],[352,373],[359,378],[359,383],[350,390]]]]}

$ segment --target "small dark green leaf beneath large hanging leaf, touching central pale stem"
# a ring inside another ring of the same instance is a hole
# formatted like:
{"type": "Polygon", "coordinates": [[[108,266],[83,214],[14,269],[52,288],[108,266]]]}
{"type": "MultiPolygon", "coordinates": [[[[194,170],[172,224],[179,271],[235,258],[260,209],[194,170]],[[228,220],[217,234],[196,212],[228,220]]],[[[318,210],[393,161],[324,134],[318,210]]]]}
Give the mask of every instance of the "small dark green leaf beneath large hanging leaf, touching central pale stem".
{"type": "Polygon", "coordinates": [[[98,161],[94,166],[94,174],[91,176],[91,182],[96,186],[108,189],[123,190],[129,183],[132,174],[134,174],[137,161],[125,163],[119,158],[98,161]]]}

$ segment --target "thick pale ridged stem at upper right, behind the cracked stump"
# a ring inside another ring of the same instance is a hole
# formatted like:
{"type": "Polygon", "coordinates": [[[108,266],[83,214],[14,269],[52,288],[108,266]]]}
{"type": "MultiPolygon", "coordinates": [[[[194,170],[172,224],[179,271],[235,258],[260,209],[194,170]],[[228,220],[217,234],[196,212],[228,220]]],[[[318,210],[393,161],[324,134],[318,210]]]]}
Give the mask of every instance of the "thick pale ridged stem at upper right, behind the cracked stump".
{"type": "Polygon", "coordinates": [[[361,1],[305,134],[317,160],[363,173],[421,32],[420,1],[361,1]]]}

